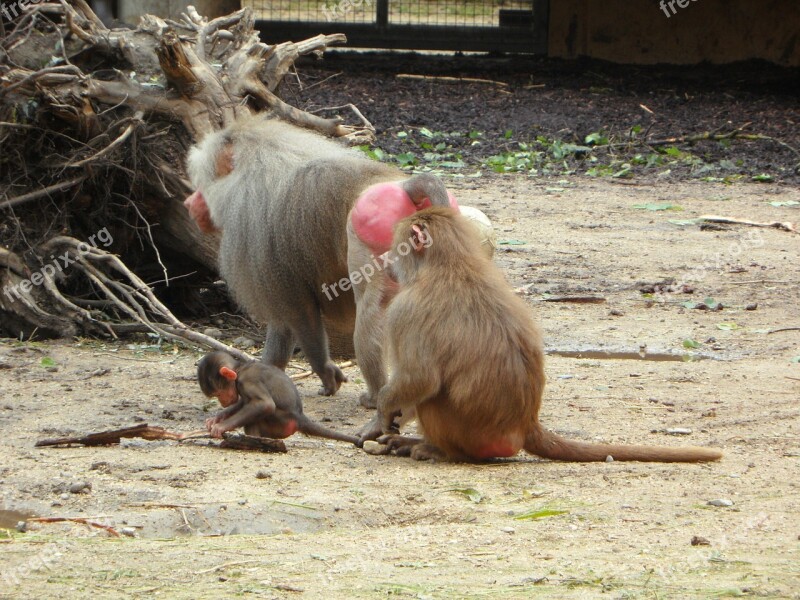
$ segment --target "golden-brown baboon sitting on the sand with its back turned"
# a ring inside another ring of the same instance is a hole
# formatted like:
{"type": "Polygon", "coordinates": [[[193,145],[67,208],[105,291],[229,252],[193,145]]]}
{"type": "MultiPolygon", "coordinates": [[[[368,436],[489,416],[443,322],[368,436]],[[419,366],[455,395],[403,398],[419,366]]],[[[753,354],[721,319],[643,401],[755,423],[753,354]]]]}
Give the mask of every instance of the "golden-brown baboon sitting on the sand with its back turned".
{"type": "Polygon", "coordinates": [[[429,208],[401,221],[395,244],[413,250],[392,269],[400,284],[386,314],[393,367],[378,393],[378,415],[363,439],[381,438],[413,458],[476,461],[520,450],[572,462],[701,462],[705,448],[588,444],[542,427],[544,349],[528,307],[479,252],[467,221],[429,208]],[[393,435],[394,419],[416,410],[422,438],[393,435]]]}

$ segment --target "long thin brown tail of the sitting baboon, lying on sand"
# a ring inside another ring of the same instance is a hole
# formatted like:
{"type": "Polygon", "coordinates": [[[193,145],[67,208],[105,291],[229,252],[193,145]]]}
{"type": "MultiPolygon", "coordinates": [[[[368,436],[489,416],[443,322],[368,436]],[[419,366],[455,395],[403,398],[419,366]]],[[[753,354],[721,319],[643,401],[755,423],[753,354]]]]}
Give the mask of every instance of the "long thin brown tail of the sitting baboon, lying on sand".
{"type": "Polygon", "coordinates": [[[531,454],[568,462],[603,462],[614,460],[640,462],[708,462],[722,458],[713,448],[684,446],[626,446],[620,444],[587,444],[562,438],[540,425],[525,438],[525,450],[531,454]]]}

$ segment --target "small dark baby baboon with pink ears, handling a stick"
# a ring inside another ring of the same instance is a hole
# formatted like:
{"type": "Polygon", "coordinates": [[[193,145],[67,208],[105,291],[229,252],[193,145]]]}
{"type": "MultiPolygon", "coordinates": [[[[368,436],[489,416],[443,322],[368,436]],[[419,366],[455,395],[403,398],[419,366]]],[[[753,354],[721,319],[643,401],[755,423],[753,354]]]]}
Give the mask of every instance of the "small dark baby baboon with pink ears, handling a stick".
{"type": "Polygon", "coordinates": [[[214,437],[244,427],[247,435],[284,439],[299,431],[306,435],[355,444],[358,438],[338,433],[303,414],[303,402],[289,376],[260,362],[243,364],[227,352],[211,352],[197,365],[197,381],[207,397],[223,410],[206,420],[214,437]]]}

